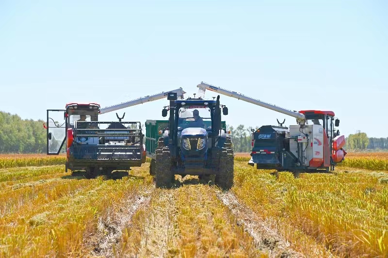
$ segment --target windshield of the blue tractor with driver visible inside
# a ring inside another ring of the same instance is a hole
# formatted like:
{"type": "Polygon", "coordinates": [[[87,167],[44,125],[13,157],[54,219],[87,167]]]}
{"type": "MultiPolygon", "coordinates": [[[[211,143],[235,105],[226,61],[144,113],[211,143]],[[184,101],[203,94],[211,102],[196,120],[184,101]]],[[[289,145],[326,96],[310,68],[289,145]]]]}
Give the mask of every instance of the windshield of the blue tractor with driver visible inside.
{"type": "Polygon", "coordinates": [[[206,106],[183,106],[179,109],[178,129],[211,128],[210,109],[206,106]]]}

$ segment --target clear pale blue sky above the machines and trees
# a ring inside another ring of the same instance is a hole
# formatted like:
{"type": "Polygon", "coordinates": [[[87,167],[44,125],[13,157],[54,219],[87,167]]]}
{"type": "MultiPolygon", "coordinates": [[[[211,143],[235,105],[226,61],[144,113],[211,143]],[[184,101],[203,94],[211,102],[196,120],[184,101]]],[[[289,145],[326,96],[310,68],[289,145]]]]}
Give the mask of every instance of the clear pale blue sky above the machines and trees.
{"type": "MultiPolygon", "coordinates": [[[[292,110],[332,110],[342,134],[387,137],[387,12],[383,0],[0,0],[0,110],[45,119],[68,101],[105,107],[178,87],[193,94],[206,81],[292,110]]],[[[233,126],[295,123],[221,100],[233,126]]],[[[120,113],[161,119],[167,103],[120,113]]]]}

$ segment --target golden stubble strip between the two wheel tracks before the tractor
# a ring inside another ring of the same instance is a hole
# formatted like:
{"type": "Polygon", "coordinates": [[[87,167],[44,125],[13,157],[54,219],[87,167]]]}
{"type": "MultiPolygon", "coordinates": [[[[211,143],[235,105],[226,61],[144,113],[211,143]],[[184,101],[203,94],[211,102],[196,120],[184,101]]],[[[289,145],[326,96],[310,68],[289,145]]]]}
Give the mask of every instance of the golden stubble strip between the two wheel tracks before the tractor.
{"type": "Polygon", "coordinates": [[[123,231],[116,257],[261,257],[268,253],[217,198],[216,188],[196,178],[156,189],[123,231]]]}

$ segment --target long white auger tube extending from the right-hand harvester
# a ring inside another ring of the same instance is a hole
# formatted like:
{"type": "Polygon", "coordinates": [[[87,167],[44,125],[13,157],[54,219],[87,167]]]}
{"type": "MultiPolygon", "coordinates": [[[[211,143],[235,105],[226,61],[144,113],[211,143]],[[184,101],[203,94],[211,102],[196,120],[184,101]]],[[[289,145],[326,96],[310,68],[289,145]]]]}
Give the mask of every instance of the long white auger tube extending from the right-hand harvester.
{"type": "Polygon", "coordinates": [[[255,98],[252,98],[252,97],[247,97],[245,95],[239,94],[239,93],[234,92],[234,91],[228,91],[226,89],[223,89],[223,88],[216,87],[216,86],[210,85],[208,83],[205,83],[203,81],[200,84],[198,84],[197,87],[200,90],[202,90],[202,91],[208,89],[210,91],[217,92],[217,93],[229,96],[229,97],[234,97],[234,98],[237,98],[237,99],[241,99],[243,101],[246,101],[246,102],[249,102],[249,103],[261,106],[263,108],[267,108],[267,109],[271,109],[271,110],[279,112],[279,113],[291,115],[292,117],[295,117],[298,122],[304,122],[306,120],[306,117],[305,117],[304,114],[298,113],[296,111],[291,111],[291,110],[288,110],[288,109],[284,109],[284,108],[281,108],[281,107],[278,107],[278,106],[275,106],[275,105],[263,102],[263,101],[261,101],[259,99],[255,99],[255,98]]]}

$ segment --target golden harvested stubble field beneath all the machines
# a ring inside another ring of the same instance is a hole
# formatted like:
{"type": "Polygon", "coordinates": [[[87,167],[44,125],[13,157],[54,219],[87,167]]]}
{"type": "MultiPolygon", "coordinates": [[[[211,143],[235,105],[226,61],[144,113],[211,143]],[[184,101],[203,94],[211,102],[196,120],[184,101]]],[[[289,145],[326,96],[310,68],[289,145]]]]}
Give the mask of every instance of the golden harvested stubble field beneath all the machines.
{"type": "Polygon", "coordinates": [[[149,163],[85,179],[56,159],[0,156],[20,164],[0,169],[0,257],[388,256],[385,154],[299,177],[237,154],[227,192],[197,177],[155,189],[149,163]]]}

